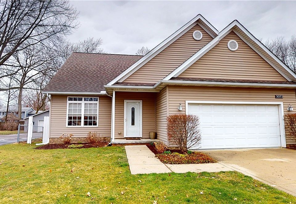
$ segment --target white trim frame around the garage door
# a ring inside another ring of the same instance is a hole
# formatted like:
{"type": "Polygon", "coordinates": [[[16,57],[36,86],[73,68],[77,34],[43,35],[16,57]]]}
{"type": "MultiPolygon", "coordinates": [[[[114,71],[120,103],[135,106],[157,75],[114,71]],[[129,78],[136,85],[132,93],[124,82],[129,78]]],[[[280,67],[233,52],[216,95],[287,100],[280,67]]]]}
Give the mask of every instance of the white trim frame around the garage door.
{"type": "Polygon", "coordinates": [[[284,122],[284,104],[283,102],[256,102],[256,101],[198,101],[198,100],[186,100],[185,101],[185,113],[188,115],[188,104],[241,104],[241,105],[278,105],[279,121],[280,121],[280,136],[281,147],[286,147],[286,134],[285,134],[285,122],[284,122]]]}

